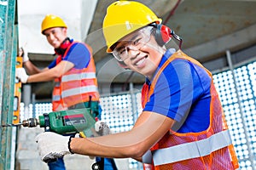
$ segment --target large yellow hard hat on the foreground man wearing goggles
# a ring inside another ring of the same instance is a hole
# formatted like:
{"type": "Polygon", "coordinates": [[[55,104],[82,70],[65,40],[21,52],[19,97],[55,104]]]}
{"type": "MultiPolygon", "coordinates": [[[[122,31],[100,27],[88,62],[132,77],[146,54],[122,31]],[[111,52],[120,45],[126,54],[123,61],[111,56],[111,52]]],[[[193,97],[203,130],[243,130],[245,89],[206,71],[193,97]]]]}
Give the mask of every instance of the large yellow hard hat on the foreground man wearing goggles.
{"type": "Polygon", "coordinates": [[[107,53],[119,39],[151,23],[161,23],[154,12],[143,3],[133,1],[117,1],[108,6],[103,20],[103,34],[107,43],[107,53]]]}

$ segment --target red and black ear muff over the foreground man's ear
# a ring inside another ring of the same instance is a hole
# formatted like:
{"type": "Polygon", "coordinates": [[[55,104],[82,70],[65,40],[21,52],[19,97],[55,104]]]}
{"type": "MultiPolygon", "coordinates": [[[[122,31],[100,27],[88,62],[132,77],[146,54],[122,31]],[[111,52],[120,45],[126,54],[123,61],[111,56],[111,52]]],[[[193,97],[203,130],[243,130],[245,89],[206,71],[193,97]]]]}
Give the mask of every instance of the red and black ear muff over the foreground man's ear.
{"type": "Polygon", "coordinates": [[[172,39],[172,30],[168,26],[158,24],[155,26],[154,37],[162,47],[172,39]]]}

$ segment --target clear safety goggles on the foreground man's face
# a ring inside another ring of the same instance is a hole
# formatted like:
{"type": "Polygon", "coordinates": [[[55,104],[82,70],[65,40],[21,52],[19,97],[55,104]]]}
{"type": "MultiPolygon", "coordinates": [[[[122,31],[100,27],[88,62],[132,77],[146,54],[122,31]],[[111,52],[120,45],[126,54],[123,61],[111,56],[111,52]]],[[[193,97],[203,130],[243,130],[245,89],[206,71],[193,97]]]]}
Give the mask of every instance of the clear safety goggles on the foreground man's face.
{"type": "Polygon", "coordinates": [[[121,39],[118,42],[117,46],[113,49],[112,54],[114,58],[119,61],[124,61],[125,59],[128,59],[129,51],[139,50],[146,43],[148,43],[153,31],[153,26],[147,26],[121,39]]]}

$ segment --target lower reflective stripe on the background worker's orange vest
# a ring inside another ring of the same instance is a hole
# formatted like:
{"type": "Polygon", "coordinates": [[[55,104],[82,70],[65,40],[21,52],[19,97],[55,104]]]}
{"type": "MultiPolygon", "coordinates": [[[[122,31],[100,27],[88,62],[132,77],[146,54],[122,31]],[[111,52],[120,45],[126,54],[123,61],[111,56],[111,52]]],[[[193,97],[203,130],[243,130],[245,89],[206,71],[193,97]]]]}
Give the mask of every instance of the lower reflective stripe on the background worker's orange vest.
{"type": "Polygon", "coordinates": [[[67,98],[69,96],[73,96],[76,94],[87,94],[90,92],[97,92],[97,87],[96,86],[86,86],[86,87],[71,88],[68,90],[63,90],[61,97],[67,98]]]}

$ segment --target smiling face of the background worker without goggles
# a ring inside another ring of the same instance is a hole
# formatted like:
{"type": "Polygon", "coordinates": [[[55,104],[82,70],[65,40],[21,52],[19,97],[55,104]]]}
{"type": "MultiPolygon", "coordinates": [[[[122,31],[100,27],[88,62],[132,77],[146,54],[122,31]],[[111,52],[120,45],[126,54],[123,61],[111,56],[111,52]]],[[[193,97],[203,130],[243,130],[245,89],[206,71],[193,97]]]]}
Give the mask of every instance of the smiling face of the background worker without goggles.
{"type": "Polygon", "coordinates": [[[61,42],[63,42],[67,37],[67,28],[49,28],[44,31],[44,35],[52,47],[59,48],[61,46],[61,42]]]}

